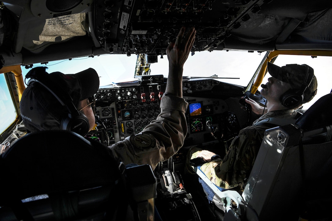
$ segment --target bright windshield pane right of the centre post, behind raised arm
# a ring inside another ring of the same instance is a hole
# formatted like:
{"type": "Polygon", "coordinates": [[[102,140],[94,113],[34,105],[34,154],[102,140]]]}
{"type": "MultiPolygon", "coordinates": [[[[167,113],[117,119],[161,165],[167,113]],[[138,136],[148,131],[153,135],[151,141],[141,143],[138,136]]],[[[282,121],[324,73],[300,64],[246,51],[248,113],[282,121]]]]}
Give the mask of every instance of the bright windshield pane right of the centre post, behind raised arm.
{"type": "MultiPolygon", "coordinates": [[[[193,56],[189,55],[184,65],[183,76],[212,76],[218,77],[222,82],[247,86],[264,54],[248,51],[196,52],[193,56]]],[[[168,60],[158,59],[158,63],[151,64],[151,73],[166,72],[165,74],[168,74],[168,60]]]]}

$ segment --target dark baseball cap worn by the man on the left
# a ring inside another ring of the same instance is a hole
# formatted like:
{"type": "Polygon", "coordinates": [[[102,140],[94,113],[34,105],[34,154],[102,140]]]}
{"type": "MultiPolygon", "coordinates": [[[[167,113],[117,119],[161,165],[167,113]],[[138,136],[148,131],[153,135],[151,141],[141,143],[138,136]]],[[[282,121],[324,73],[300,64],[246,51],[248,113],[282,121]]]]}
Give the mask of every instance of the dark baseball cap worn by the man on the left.
{"type": "Polygon", "coordinates": [[[20,111],[31,132],[60,129],[62,119],[71,112],[67,104],[77,109],[80,101],[93,96],[99,88],[99,76],[93,68],[76,74],[48,74],[46,69],[36,67],[26,75],[30,80],[22,94],[20,111]]]}

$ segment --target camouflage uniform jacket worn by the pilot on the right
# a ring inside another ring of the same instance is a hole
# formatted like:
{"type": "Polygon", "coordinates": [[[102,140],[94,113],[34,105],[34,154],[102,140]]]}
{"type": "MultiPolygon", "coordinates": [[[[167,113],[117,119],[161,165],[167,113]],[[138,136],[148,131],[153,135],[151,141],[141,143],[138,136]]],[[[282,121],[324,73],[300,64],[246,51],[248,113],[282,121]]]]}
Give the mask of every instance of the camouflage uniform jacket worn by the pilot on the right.
{"type": "Polygon", "coordinates": [[[201,166],[201,170],[217,186],[225,189],[240,187],[243,190],[242,186],[250,175],[263,141],[264,132],[270,128],[266,125],[256,124],[264,122],[264,119],[269,117],[297,119],[300,115],[299,112],[293,110],[270,111],[264,114],[252,126],[240,130],[222,160],[205,163],[201,166]]]}

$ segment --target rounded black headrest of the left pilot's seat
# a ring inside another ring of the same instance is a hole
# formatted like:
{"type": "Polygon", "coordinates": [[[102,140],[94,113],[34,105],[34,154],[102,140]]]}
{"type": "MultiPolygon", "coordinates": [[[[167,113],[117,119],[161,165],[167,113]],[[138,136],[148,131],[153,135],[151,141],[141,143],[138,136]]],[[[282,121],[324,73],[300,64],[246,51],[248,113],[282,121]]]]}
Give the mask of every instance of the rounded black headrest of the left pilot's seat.
{"type": "Polygon", "coordinates": [[[0,165],[7,168],[7,185],[17,184],[21,198],[121,179],[117,160],[106,146],[66,130],[27,134],[0,156],[0,165]]]}

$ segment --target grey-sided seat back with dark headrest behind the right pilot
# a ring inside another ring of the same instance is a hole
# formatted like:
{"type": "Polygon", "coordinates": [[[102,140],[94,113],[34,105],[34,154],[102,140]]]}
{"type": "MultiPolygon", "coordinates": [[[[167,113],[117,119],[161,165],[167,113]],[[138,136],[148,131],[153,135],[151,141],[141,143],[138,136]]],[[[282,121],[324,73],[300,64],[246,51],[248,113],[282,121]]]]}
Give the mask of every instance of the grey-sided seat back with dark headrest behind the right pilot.
{"type": "Polygon", "coordinates": [[[327,193],[332,172],[331,101],[328,94],[295,125],[265,131],[243,192],[248,204],[244,220],[328,217],[322,211],[332,205],[327,193]]]}

